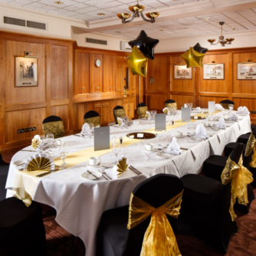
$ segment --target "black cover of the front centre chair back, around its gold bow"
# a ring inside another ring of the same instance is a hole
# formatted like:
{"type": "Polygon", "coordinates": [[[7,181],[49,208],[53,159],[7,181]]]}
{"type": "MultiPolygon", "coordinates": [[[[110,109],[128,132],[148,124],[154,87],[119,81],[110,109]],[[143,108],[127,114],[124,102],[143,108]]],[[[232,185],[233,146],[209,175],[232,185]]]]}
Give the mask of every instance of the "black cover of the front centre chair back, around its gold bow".
{"type": "MultiPolygon", "coordinates": [[[[158,174],[140,182],[133,189],[133,195],[155,208],[165,204],[183,190],[182,180],[170,174],[158,174]]],[[[139,255],[146,229],[149,226],[151,216],[136,227],[126,232],[126,240],[123,246],[123,256],[139,255]]],[[[167,215],[172,229],[176,231],[176,218],[167,215]]]]}

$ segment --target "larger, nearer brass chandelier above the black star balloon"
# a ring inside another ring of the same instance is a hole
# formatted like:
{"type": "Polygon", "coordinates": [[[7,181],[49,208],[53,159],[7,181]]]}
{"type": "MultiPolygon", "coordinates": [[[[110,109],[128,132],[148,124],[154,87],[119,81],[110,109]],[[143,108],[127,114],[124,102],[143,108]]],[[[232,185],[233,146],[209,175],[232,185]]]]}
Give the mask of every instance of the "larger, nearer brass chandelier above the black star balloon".
{"type": "Polygon", "coordinates": [[[146,13],[146,17],[150,18],[150,19],[147,19],[143,15],[144,8],[145,7],[143,5],[139,5],[139,0],[137,0],[136,5],[132,5],[129,7],[130,11],[133,11],[132,18],[130,18],[130,16],[131,16],[130,13],[120,13],[117,15],[117,17],[122,20],[123,24],[133,21],[134,18],[139,18],[140,16],[141,16],[141,18],[143,18],[144,21],[149,21],[151,23],[154,23],[156,21],[155,19],[159,16],[160,13],[159,12],[148,12],[148,13],[146,13]],[[130,18],[130,20],[127,20],[128,18],[130,18]]]}

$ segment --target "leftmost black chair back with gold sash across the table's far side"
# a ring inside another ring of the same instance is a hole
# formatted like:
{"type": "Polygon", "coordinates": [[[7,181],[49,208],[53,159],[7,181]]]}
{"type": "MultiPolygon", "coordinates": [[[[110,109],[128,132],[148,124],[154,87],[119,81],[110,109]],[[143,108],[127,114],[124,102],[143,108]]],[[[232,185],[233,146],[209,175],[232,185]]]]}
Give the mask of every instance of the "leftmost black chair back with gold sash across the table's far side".
{"type": "Polygon", "coordinates": [[[52,133],[54,139],[61,138],[64,136],[64,125],[61,117],[50,116],[46,117],[43,121],[44,136],[52,133]]]}

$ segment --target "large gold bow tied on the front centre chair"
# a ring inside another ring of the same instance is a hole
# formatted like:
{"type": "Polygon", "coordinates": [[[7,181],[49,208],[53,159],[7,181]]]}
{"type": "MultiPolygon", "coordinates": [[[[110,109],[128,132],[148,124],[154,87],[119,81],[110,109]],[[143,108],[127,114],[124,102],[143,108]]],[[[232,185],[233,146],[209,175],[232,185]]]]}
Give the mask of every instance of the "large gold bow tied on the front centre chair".
{"type": "Polygon", "coordinates": [[[176,237],[166,215],[178,218],[182,203],[183,191],[167,201],[159,208],[147,204],[131,195],[129,221],[127,228],[131,229],[143,222],[149,215],[151,220],[143,239],[140,256],[181,256],[176,237]]]}

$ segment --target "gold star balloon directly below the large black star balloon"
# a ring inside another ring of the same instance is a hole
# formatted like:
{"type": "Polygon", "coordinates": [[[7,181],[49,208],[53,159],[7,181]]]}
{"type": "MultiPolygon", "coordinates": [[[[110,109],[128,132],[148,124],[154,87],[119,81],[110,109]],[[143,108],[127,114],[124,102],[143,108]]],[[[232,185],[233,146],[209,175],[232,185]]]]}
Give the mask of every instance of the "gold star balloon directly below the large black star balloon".
{"type": "Polygon", "coordinates": [[[136,47],[133,47],[132,53],[126,57],[128,67],[132,74],[139,74],[143,77],[146,77],[148,69],[148,59],[144,54],[136,47]]]}

